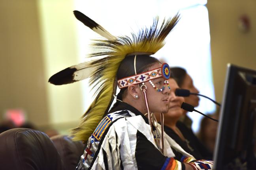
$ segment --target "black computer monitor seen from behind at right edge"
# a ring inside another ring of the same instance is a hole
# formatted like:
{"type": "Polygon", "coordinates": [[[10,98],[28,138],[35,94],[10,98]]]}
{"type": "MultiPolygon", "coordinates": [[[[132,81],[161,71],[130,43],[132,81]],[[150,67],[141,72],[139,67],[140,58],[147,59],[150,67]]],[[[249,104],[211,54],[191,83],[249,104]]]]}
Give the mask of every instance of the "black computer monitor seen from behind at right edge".
{"type": "Polygon", "coordinates": [[[213,160],[215,170],[256,170],[256,70],[228,64],[213,160]]]}

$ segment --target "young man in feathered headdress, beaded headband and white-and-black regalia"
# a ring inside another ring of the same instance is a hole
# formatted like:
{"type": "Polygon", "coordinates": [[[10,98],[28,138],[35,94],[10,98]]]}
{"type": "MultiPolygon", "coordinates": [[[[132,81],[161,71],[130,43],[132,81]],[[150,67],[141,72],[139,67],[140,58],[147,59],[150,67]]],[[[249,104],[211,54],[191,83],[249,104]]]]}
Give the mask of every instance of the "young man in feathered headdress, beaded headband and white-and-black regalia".
{"type": "Polygon", "coordinates": [[[168,111],[170,70],[150,55],[164,46],[179,15],[160,27],[156,18],[137,35],[115,37],[79,11],[74,13],[106,38],[94,42],[90,63],[66,68],[49,79],[60,85],[89,77],[96,91],[82,123],[73,130],[75,140],[87,141],[77,169],[211,168],[211,161],[195,161],[151,117],[153,112],[168,111]],[[117,103],[109,111],[117,86],[117,103]],[[145,113],[149,113],[147,117],[145,113]]]}

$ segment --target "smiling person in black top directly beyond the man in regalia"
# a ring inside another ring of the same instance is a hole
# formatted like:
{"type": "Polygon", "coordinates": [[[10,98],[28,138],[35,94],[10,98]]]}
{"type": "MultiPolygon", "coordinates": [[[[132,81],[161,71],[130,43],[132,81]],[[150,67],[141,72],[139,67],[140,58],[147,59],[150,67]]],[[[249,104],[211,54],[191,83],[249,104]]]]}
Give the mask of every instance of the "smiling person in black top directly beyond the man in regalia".
{"type": "MultiPolygon", "coordinates": [[[[181,104],[184,98],[175,95],[175,90],[179,88],[175,79],[169,79],[169,86],[171,87],[169,95],[169,109],[164,114],[164,131],[169,137],[177,142],[181,148],[193,155],[196,159],[212,160],[213,155],[207,150],[204,144],[194,135],[192,129],[179,119],[184,115],[181,104]]],[[[154,113],[156,120],[160,122],[160,113],[154,113]]]]}

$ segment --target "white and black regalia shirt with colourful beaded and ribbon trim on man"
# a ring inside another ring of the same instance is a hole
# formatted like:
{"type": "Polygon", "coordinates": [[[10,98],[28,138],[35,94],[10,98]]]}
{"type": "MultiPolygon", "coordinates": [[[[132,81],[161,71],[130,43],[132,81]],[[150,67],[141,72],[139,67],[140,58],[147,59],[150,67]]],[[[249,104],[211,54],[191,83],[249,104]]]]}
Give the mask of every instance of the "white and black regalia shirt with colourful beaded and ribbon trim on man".
{"type": "Polygon", "coordinates": [[[77,170],[173,170],[195,160],[165,134],[164,153],[160,128],[153,133],[147,118],[131,105],[120,102],[100,121],[87,142],[77,170]]]}

